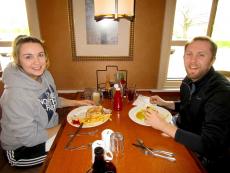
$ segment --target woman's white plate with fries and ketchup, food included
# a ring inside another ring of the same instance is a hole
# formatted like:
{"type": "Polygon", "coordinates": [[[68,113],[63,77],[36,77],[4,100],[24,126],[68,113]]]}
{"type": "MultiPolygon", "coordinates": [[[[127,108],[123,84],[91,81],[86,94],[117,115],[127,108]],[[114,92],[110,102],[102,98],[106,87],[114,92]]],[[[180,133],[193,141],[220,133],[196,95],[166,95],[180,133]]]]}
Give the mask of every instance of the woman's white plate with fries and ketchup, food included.
{"type": "Polygon", "coordinates": [[[74,127],[79,127],[81,123],[83,128],[96,127],[108,121],[111,112],[102,106],[81,106],[67,115],[67,122],[74,127]]]}

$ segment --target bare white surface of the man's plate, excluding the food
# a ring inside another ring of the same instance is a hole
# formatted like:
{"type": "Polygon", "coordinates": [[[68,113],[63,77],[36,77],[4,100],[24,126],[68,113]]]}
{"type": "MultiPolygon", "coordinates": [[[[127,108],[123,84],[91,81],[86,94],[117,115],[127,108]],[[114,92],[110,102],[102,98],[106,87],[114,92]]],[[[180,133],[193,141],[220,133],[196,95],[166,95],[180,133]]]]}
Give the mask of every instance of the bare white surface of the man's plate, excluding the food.
{"type": "MultiPolygon", "coordinates": [[[[153,106],[156,110],[159,111],[160,114],[165,115],[165,120],[168,123],[172,122],[172,114],[165,108],[159,107],[159,106],[153,106]]],[[[137,124],[143,125],[143,126],[149,126],[145,124],[144,120],[140,120],[136,117],[136,113],[139,112],[141,109],[145,109],[146,106],[135,106],[129,111],[129,118],[134,121],[137,124]]]]}

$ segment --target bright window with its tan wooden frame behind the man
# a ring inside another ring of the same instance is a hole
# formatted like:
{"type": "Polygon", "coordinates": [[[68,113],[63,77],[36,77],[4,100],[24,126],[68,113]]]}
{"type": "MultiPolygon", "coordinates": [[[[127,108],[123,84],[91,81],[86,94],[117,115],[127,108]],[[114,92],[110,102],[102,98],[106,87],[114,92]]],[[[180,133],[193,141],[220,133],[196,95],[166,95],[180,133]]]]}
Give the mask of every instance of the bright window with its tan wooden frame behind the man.
{"type": "Polygon", "coordinates": [[[230,71],[230,17],[228,0],[167,0],[159,73],[159,88],[173,88],[185,77],[184,45],[195,36],[210,36],[218,45],[216,70],[230,71]],[[222,19],[222,20],[221,20],[222,19]],[[169,29],[167,29],[169,28],[169,29]],[[163,75],[163,71],[167,74],[163,75]]]}

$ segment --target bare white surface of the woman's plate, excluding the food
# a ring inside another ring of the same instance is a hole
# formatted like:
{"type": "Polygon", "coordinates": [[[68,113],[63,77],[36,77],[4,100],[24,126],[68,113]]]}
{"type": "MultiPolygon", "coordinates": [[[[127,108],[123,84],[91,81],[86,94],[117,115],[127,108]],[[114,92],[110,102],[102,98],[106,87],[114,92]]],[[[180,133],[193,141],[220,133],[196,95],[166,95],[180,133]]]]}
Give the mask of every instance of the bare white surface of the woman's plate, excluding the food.
{"type": "MultiPolygon", "coordinates": [[[[87,110],[89,108],[91,108],[93,106],[81,106],[81,107],[78,107],[74,110],[72,110],[68,115],[67,115],[67,122],[74,126],[74,127],[79,127],[78,124],[73,124],[72,121],[73,120],[76,120],[78,118],[84,118],[85,117],[85,114],[87,112],[87,110]]],[[[103,121],[99,121],[99,122],[95,122],[93,124],[90,124],[90,125],[87,125],[87,124],[83,124],[83,127],[82,128],[90,128],[90,127],[96,127],[96,126],[99,126],[103,123],[105,123],[106,121],[108,121],[109,117],[104,119],[103,121]]]]}

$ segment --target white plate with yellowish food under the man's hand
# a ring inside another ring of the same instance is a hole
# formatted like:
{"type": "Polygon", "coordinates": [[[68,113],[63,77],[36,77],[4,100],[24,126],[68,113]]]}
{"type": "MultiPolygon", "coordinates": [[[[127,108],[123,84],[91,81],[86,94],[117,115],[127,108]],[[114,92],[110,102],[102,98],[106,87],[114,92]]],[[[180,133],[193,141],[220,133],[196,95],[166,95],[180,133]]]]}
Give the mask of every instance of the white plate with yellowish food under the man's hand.
{"type": "Polygon", "coordinates": [[[135,106],[129,111],[129,118],[137,124],[149,126],[145,123],[145,111],[153,109],[160,113],[160,116],[168,123],[172,122],[172,114],[165,108],[159,106],[135,106]]]}

